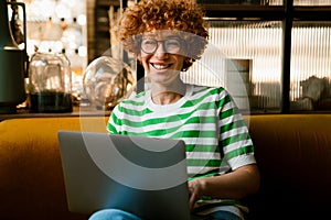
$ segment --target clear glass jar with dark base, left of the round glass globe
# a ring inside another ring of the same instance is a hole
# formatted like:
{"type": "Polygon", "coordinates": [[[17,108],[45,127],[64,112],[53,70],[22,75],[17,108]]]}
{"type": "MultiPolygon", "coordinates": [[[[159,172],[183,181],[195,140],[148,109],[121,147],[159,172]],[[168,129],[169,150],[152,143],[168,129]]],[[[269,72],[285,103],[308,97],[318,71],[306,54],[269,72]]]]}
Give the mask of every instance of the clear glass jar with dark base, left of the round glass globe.
{"type": "Polygon", "coordinates": [[[72,112],[72,72],[63,53],[35,53],[29,66],[32,112],[72,112]]]}

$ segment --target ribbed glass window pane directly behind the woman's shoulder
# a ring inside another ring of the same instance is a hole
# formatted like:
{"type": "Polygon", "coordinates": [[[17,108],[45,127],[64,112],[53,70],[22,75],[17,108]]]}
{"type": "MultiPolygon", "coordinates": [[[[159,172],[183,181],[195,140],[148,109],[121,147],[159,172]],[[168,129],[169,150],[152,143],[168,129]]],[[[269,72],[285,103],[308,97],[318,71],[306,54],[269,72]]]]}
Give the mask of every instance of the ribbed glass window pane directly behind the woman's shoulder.
{"type": "Polygon", "coordinates": [[[279,21],[211,21],[209,50],[183,78],[225,87],[241,109],[280,111],[281,33],[279,21]]]}

